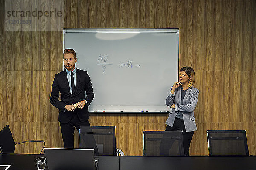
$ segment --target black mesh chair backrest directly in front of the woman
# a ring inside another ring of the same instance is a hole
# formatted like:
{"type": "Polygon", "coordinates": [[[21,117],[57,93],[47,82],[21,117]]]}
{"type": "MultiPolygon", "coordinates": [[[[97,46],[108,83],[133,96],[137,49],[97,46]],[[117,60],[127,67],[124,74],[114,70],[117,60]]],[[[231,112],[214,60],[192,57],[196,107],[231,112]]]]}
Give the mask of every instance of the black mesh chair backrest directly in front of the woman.
{"type": "Polygon", "coordinates": [[[143,131],[143,156],[184,156],[182,130],[143,131]]]}

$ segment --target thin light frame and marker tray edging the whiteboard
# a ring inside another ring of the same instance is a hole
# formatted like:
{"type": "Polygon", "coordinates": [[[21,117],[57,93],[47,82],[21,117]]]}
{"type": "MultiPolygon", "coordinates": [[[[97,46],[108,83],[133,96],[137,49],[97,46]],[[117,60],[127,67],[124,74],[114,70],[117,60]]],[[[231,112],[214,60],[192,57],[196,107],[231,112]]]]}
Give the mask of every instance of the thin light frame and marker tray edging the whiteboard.
{"type": "MultiPolygon", "coordinates": [[[[64,51],[64,45],[65,45],[65,33],[77,33],[77,32],[155,32],[155,33],[176,33],[177,34],[177,68],[179,68],[179,29],[177,28],[63,28],[63,50],[64,51]]],[[[63,71],[65,70],[65,67],[63,65],[63,71]]],[[[178,69],[176,72],[176,80],[178,80],[178,69]]],[[[129,110],[120,110],[120,109],[113,109],[104,111],[102,109],[93,111],[90,110],[89,106],[89,113],[169,113],[170,110],[143,110],[143,111],[129,111],[129,110]]]]}

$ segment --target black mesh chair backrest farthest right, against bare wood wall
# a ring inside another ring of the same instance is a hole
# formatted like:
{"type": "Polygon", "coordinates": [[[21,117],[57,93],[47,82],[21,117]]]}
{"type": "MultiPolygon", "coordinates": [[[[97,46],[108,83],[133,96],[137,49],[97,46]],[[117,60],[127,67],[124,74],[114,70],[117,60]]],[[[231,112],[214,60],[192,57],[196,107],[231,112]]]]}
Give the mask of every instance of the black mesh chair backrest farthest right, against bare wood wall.
{"type": "Polygon", "coordinates": [[[249,156],[245,130],[207,130],[209,156],[249,156]]]}

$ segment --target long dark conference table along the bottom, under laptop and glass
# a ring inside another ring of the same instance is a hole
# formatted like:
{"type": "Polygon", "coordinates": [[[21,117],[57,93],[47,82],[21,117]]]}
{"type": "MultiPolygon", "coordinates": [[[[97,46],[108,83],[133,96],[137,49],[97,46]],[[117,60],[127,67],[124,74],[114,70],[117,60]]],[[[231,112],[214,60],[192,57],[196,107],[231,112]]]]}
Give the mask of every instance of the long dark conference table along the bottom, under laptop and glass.
{"type": "MultiPolygon", "coordinates": [[[[39,157],[44,155],[1,153],[0,164],[10,164],[9,170],[37,170],[35,159],[39,157]]],[[[97,170],[256,170],[256,156],[96,157],[97,170]]]]}

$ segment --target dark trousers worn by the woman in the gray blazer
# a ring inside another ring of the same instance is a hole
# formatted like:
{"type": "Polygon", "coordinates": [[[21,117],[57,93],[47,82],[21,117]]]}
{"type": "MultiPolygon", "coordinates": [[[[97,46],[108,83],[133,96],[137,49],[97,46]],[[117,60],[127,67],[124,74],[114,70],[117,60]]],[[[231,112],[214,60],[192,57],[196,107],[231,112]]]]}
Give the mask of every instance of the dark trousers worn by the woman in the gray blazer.
{"type": "Polygon", "coordinates": [[[194,135],[194,132],[186,132],[184,120],[180,118],[175,118],[173,126],[166,126],[166,131],[173,131],[173,130],[183,130],[183,146],[184,146],[184,154],[185,156],[189,156],[189,147],[194,135]]]}

